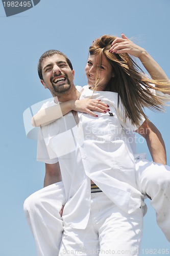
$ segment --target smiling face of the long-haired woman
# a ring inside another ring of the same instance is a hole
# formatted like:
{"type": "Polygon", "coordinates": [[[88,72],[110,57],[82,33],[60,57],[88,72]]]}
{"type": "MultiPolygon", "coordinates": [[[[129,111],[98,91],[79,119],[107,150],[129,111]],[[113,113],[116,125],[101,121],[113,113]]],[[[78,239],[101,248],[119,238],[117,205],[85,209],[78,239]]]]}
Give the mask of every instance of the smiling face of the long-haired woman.
{"type": "Polygon", "coordinates": [[[99,63],[99,55],[89,55],[85,73],[90,87],[94,87],[95,79],[99,79],[98,91],[104,90],[110,79],[114,77],[112,66],[105,55],[102,56],[102,64],[99,63]],[[95,77],[96,72],[98,72],[98,77],[95,77]]]}

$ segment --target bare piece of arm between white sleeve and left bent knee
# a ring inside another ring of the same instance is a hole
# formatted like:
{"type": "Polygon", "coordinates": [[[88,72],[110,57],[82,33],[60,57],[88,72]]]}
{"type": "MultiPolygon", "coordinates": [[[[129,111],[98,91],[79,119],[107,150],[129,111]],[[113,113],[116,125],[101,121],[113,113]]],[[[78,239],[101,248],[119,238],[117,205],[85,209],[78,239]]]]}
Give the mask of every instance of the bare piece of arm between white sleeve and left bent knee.
{"type": "Polygon", "coordinates": [[[44,187],[61,181],[59,162],[54,164],[45,163],[44,187]]]}

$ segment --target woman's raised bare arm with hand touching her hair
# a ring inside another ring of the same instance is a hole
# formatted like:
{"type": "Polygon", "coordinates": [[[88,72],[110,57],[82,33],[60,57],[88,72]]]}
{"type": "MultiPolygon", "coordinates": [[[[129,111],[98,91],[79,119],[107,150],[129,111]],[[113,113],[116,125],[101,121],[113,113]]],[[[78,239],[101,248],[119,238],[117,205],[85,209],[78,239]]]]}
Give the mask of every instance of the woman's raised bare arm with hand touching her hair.
{"type": "MultiPolygon", "coordinates": [[[[169,92],[167,92],[167,94],[170,94],[169,79],[163,69],[146,50],[135,45],[134,42],[128,39],[128,37],[126,37],[123,33],[122,38],[117,37],[112,42],[112,47],[110,51],[114,53],[128,53],[133,55],[134,57],[139,58],[142,62],[142,65],[148,71],[152,79],[165,81],[165,83],[168,82],[168,85],[166,86],[165,84],[164,87],[169,88],[169,92]]],[[[160,88],[162,88],[162,86],[160,88]]]]}

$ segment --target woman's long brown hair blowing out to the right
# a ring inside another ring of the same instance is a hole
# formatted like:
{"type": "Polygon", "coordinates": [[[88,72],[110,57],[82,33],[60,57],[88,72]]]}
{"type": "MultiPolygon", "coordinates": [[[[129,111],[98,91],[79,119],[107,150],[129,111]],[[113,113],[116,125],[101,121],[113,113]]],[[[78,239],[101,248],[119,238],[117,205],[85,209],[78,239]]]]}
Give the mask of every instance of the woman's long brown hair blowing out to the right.
{"type": "MultiPolygon", "coordinates": [[[[127,117],[132,124],[139,124],[141,115],[148,119],[143,112],[143,108],[147,107],[154,111],[162,111],[164,97],[152,93],[151,89],[167,92],[167,88],[155,88],[154,85],[169,86],[168,81],[153,80],[147,77],[140,67],[127,53],[110,53],[110,47],[115,36],[104,35],[95,39],[89,48],[90,55],[99,56],[99,65],[102,64],[103,54],[110,62],[114,77],[105,87],[104,91],[116,92],[118,94],[118,104],[120,99],[124,106],[124,121],[127,117]]],[[[96,70],[95,87],[99,86],[100,70],[96,70]]]]}

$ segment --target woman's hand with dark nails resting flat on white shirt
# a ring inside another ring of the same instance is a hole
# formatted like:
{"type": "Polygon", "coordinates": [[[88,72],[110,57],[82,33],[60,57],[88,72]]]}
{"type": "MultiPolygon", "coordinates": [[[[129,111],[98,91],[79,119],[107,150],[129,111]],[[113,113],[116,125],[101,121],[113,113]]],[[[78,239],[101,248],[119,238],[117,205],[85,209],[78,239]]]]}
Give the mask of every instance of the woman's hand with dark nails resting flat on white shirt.
{"type": "Polygon", "coordinates": [[[109,106],[102,102],[100,99],[81,99],[74,101],[74,106],[72,106],[72,110],[77,112],[87,113],[91,116],[98,117],[96,113],[92,111],[97,111],[101,113],[107,113],[110,110],[109,106]]]}

